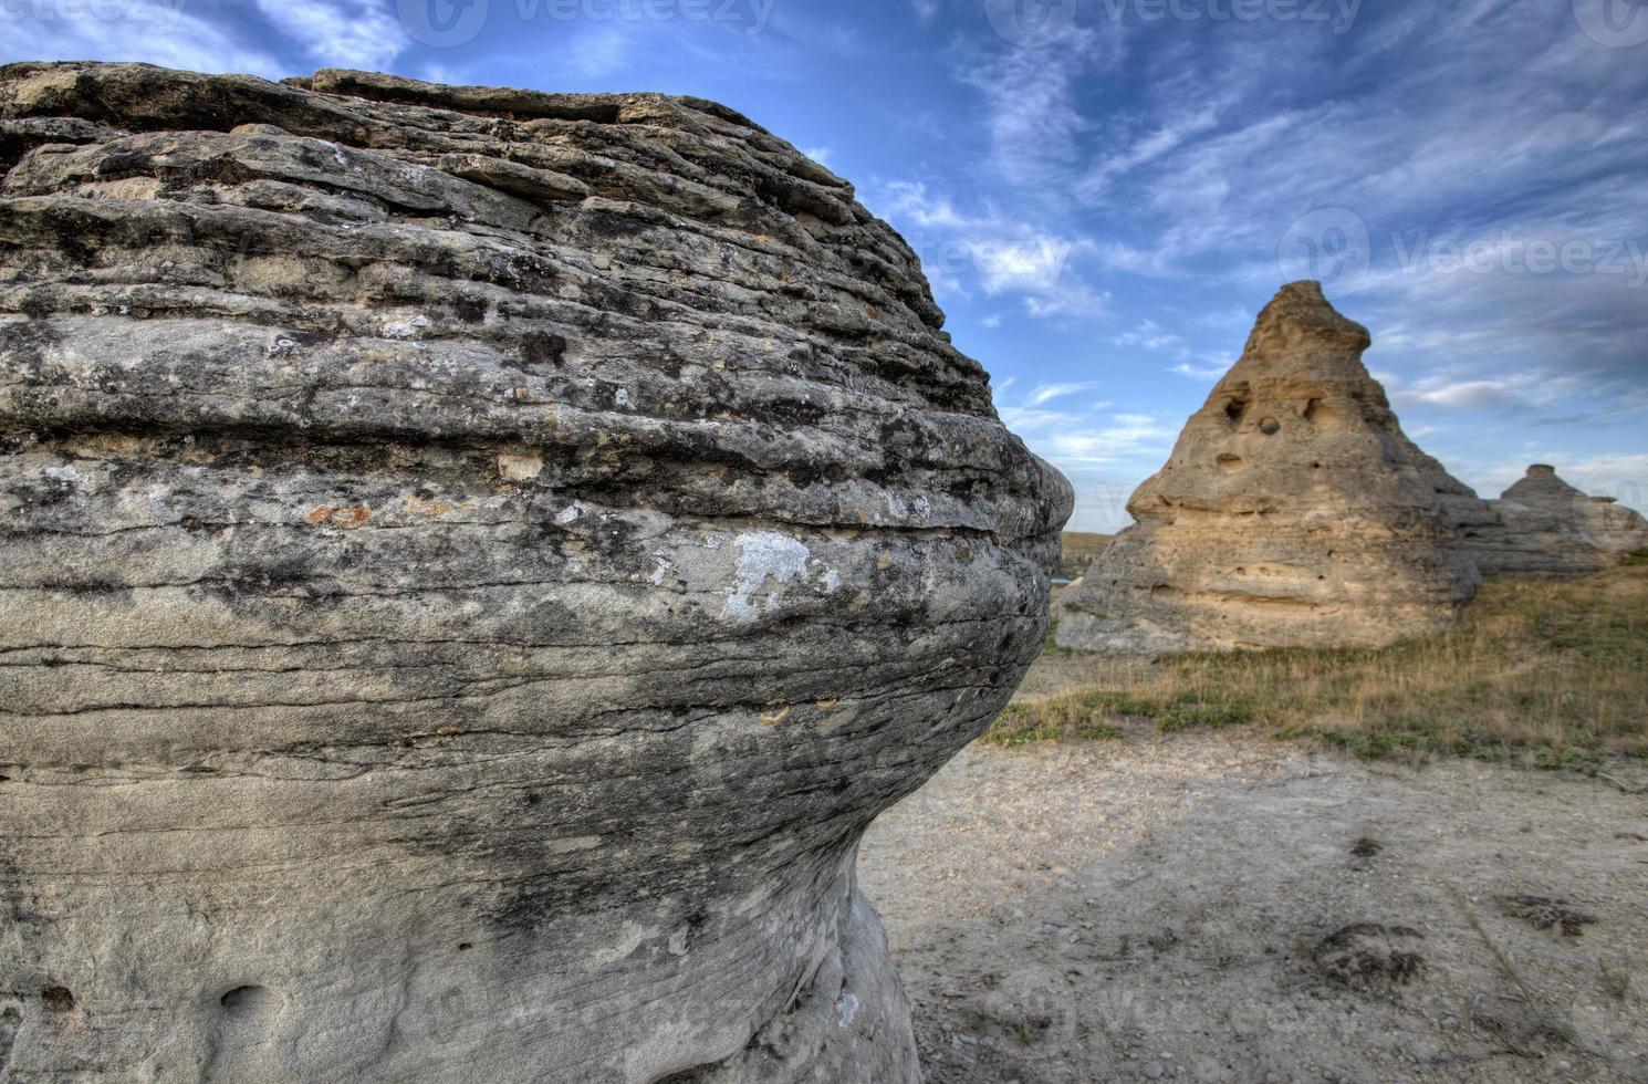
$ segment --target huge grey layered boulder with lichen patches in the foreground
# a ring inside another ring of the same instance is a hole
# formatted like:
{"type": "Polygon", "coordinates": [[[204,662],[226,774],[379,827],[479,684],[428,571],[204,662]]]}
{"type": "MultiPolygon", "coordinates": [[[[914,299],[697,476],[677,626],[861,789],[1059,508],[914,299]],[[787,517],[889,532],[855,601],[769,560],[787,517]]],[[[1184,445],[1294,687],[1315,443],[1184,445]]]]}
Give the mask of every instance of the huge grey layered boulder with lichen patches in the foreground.
{"type": "Polygon", "coordinates": [[[1070,491],[850,186],[87,64],[0,69],[0,1076],[915,1079],[855,845],[1070,491]]]}

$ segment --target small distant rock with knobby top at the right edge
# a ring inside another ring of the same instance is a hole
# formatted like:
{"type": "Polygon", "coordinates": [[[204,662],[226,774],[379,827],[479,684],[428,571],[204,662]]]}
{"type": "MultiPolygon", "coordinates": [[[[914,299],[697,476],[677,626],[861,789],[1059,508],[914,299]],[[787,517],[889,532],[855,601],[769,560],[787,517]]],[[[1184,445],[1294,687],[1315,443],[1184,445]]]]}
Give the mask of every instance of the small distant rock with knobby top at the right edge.
{"type": "Polygon", "coordinates": [[[1592,498],[1536,463],[1488,501],[1495,522],[1465,532],[1483,575],[1584,577],[1648,549],[1648,521],[1610,498],[1592,498]]]}

